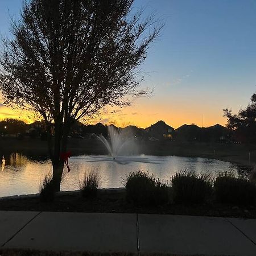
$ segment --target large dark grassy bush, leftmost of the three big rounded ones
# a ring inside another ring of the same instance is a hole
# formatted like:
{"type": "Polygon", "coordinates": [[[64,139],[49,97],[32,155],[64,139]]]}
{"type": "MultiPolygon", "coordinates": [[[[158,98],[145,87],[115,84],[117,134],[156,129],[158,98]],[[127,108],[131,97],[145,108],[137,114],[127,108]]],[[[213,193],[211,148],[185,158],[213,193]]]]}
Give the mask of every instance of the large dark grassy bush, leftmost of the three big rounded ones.
{"type": "Polygon", "coordinates": [[[168,203],[168,185],[149,172],[131,172],[123,179],[126,199],[137,206],[168,203]]]}

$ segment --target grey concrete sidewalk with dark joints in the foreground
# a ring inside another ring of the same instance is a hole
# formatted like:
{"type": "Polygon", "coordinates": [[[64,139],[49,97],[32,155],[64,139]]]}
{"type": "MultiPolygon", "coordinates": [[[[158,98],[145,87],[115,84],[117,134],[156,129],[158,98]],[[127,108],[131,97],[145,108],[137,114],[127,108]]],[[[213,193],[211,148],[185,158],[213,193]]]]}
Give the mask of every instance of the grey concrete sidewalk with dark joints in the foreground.
{"type": "Polygon", "coordinates": [[[256,220],[0,211],[0,250],[256,255],[256,220]]]}

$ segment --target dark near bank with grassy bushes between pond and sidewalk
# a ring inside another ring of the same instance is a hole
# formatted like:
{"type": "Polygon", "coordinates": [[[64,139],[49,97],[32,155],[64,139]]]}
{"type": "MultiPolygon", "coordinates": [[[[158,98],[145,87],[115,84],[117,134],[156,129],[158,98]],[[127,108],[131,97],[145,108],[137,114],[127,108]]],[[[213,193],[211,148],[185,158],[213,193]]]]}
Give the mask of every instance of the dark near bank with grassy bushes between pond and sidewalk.
{"type": "Polygon", "coordinates": [[[0,210],[256,218],[255,176],[248,180],[230,172],[213,177],[184,170],[163,181],[134,171],[123,177],[125,188],[98,189],[98,175],[85,174],[80,191],[52,194],[46,186],[40,195],[3,197],[0,210]]]}

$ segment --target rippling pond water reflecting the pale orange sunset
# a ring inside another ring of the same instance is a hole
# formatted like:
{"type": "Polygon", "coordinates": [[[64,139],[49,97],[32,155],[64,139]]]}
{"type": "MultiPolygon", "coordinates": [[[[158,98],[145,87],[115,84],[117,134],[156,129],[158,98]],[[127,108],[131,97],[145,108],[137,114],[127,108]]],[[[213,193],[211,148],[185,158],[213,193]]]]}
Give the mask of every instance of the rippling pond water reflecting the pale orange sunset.
{"type": "MultiPolygon", "coordinates": [[[[38,193],[44,174],[52,171],[51,161],[46,158],[31,159],[23,154],[12,153],[5,155],[5,159],[2,166],[0,162],[0,197],[38,193]]],[[[79,179],[86,171],[91,170],[100,175],[101,188],[123,187],[122,178],[138,170],[151,172],[166,181],[170,181],[172,175],[184,169],[213,175],[216,172],[233,171],[241,176],[246,175],[247,171],[236,164],[215,159],[145,155],[115,160],[108,156],[73,156],[69,159],[69,166],[71,172],[65,175],[61,191],[79,189],[79,179]]]]}

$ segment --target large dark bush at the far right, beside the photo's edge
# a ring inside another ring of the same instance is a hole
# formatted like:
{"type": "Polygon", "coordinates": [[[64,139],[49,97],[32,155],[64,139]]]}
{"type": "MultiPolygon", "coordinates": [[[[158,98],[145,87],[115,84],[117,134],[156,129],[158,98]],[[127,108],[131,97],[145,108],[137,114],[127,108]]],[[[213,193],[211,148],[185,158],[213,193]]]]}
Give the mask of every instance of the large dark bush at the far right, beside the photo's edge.
{"type": "Polygon", "coordinates": [[[256,186],[250,180],[224,172],[214,181],[214,193],[220,203],[251,205],[255,203],[256,186]]]}

